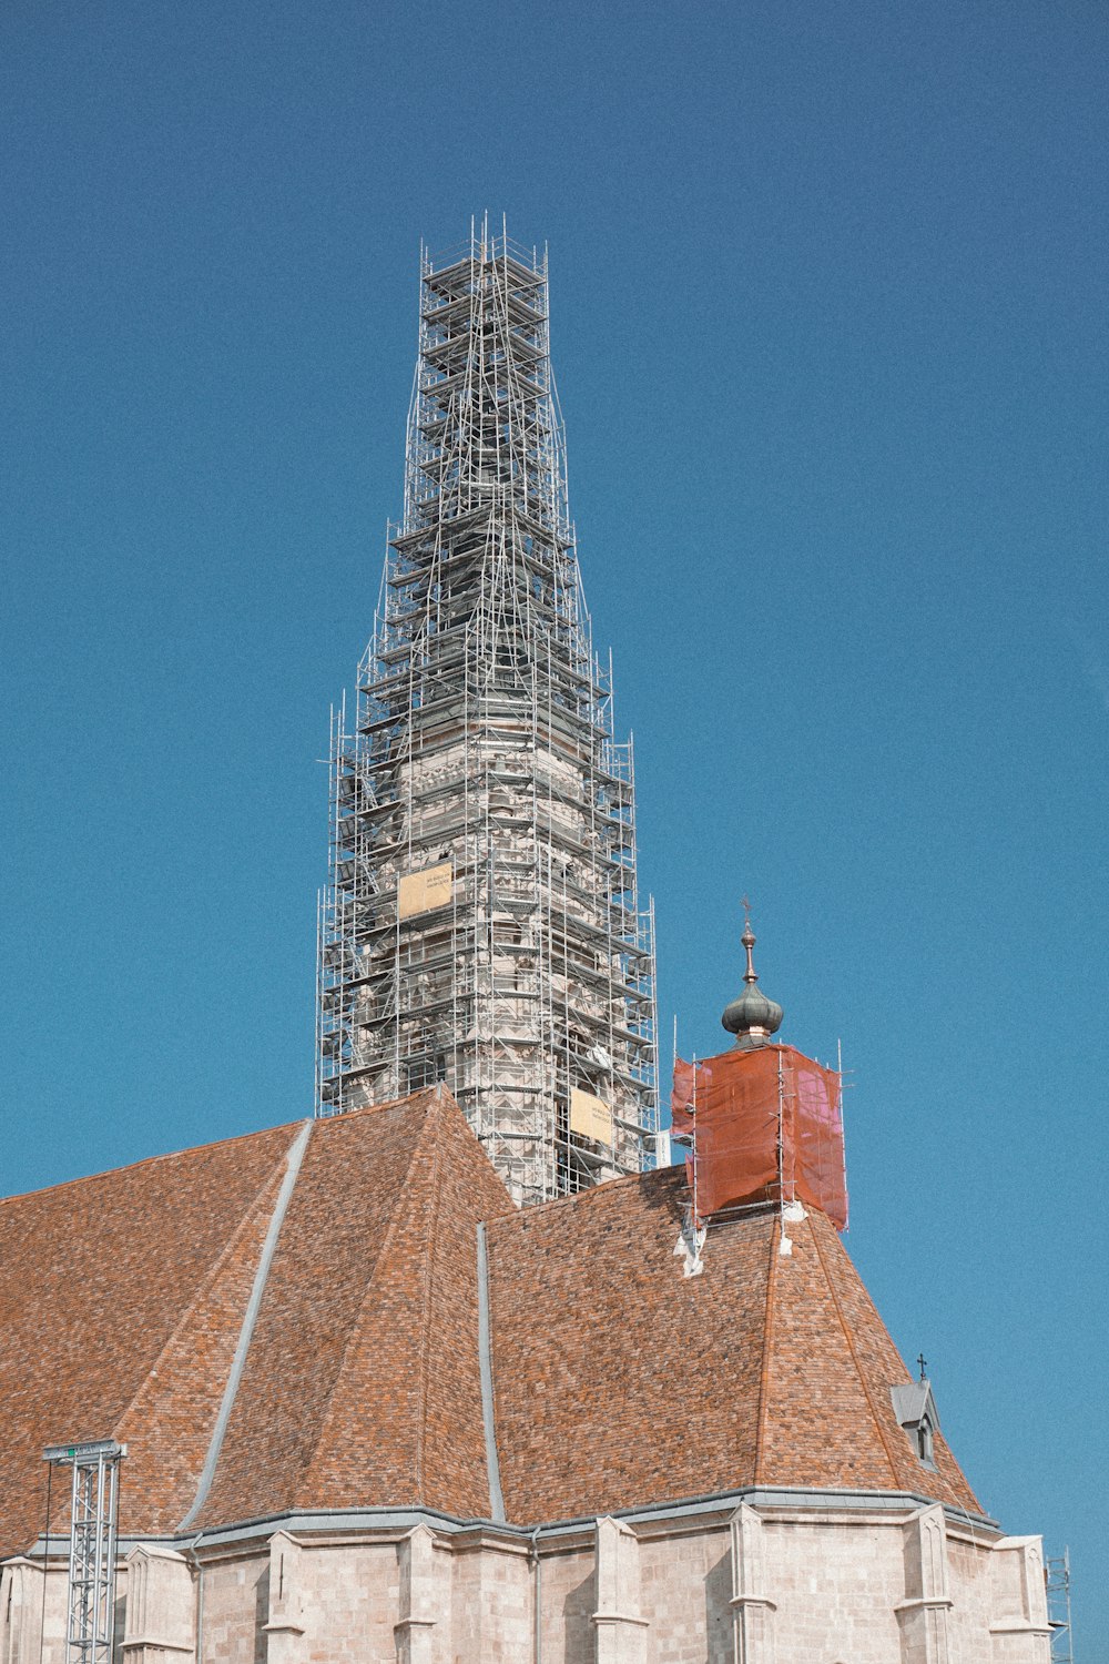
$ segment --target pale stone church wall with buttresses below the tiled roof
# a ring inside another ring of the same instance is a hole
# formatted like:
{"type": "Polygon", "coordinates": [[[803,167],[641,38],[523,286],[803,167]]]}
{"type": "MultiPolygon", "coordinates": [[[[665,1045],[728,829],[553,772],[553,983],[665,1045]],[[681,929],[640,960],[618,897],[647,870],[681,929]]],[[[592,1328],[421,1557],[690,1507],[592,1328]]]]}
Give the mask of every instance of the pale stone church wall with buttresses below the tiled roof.
{"type": "MultiPolygon", "coordinates": [[[[0,1574],[0,1664],[65,1664],[65,1561],[0,1574]],[[45,1616],[45,1632],[43,1632],[45,1616]]],[[[752,1493],[534,1533],[444,1516],[140,1543],[123,1664],[1049,1664],[1038,1538],[913,1498],[752,1493]],[[308,1529],[311,1528],[311,1529],[308,1529]]]]}

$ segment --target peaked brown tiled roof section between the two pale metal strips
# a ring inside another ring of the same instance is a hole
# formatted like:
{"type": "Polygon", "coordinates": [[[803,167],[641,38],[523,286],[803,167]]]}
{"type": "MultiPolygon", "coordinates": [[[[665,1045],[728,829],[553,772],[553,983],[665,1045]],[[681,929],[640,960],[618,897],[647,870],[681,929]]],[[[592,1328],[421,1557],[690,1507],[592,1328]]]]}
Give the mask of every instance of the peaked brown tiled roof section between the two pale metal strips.
{"type": "Polygon", "coordinates": [[[489,1516],[477,1221],[507,1206],[446,1092],[316,1123],[201,1524],[379,1503],[489,1516]]]}

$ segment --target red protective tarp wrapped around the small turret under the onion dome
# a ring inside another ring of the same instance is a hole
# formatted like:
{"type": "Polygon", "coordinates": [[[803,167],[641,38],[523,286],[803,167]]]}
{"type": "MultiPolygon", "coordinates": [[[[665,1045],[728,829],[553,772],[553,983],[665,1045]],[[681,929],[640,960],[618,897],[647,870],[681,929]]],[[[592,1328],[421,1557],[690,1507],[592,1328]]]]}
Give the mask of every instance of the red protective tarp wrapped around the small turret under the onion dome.
{"type": "Polygon", "coordinates": [[[673,1067],[673,1132],[693,1138],[687,1160],[697,1213],[743,1201],[805,1201],[845,1230],[840,1077],[788,1045],[723,1052],[673,1067]],[[697,1166],[697,1171],[693,1171],[697,1166]]]}

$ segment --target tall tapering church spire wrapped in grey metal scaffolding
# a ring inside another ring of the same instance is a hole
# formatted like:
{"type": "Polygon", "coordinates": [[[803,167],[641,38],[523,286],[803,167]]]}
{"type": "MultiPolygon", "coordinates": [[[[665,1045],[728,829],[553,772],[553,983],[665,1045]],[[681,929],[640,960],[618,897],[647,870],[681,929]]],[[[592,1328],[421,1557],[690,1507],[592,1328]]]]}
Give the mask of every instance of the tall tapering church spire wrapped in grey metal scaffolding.
{"type": "Polygon", "coordinates": [[[421,255],[404,521],[331,729],[319,1115],[446,1082],[519,1203],[653,1165],[653,914],[592,649],[547,260],[421,255]]]}

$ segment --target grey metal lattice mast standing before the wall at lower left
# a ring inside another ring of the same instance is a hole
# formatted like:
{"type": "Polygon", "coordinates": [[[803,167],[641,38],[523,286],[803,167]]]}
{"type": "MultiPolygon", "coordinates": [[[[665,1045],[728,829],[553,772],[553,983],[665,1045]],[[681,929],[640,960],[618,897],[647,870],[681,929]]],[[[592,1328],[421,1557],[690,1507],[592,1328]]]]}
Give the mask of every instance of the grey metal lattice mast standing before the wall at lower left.
{"type": "Polygon", "coordinates": [[[68,1664],[111,1664],[116,1508],[123,1456],[126,1446],[115,1439],[53,1444],[43,1451],[45,1461],[73,1469],[65,1631],[68,1664]]]}

